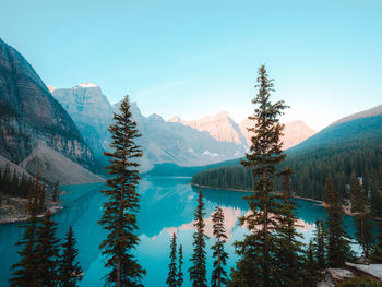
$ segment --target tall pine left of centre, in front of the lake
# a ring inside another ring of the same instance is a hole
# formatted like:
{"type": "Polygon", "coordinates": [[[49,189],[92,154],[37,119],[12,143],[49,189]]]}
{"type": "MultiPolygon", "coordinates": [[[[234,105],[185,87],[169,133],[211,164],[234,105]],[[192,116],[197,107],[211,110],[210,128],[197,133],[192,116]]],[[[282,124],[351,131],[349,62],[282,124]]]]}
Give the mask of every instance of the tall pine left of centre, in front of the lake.
{"type": "Polygon", "coordinates": [[[106,181],[108,190],[103,191],[107,196],[104,203],[104,215],[99,224],[108,231],[100,249],[106,255],[105,266],[110,270],[106,276],[109,284],[121,286],[142,286],[141,280],[145,270],[141,267],[132,254],[140,239],[134,234],[138,229],[136,215],[139,212],[139,163],[142,157],[141,147],[135,143],[141,136],[136,123],[132,119],[129,97],[127,96],[115,113],[115,123],[110,125],[112,153],[105,153],[110,158],[110,178],[106,181]]]}

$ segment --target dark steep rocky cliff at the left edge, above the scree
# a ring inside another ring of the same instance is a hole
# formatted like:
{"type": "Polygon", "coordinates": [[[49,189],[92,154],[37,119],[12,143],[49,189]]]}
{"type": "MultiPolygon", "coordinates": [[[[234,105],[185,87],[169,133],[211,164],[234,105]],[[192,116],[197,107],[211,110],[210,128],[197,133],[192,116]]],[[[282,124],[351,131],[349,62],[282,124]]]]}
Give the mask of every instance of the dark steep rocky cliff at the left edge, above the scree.
{"type": "Polygon", "coordinates": [[[24,57],[0,39],[0,154],[19,164],[41,142],[83,166],[93,165],[71,117],[24,57]]]}

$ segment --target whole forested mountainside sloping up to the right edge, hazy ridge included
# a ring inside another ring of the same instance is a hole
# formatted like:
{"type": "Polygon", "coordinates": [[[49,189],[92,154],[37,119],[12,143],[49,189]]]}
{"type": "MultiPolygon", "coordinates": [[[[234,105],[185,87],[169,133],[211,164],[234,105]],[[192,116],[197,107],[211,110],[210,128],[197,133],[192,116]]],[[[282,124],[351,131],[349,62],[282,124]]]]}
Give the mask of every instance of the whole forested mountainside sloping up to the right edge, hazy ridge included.
{"type": "MultiPolygon", "coordinates": [[[[291,182],[297,195],[322,200],[330,176],[333,187],[346,199],[349,196],[346,184],[355,175],[362,177],[363,188],[374,196],[375,188],[382,186],[382,112],[378,111],[379,107],[370,109],[373,112],[367,110],[339,119],[286,151],[287,158],[282,167],[289,166],[294,170],[291,182]]],[[[204,170],[194,175],[192,182],[214,188],[253,189],[251,170],[239,165],[204,170]]]]}

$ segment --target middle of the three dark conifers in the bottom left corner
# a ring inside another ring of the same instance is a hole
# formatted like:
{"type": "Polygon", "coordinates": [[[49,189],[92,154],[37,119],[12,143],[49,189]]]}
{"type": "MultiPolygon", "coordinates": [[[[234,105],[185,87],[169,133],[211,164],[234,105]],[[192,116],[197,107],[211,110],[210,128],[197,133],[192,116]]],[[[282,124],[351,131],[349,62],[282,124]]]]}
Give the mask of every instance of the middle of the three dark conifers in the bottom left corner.
{"type": "Polygon", "coordinates": [[[41,286],[57,286],[59,239],[56,237],[56,226],[48,211],[36,230],[36,276],[41,286]]]}

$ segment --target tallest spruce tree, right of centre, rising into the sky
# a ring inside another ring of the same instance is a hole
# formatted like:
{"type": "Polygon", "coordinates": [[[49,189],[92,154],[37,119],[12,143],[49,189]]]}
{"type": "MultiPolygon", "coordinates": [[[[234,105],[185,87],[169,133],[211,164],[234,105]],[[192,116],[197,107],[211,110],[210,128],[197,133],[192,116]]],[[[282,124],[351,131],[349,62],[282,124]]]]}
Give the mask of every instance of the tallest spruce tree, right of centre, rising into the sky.
{"type": "Polygon", "coordinates": [[[250,152],[247,160],[241,164],[252,169],[255,179],[254,190],[249,202],[250,214],[240,218],[250,235],[243,241],[235,242],[236,252],[240,256],[236,270],[231,273],[230,286],[275,286],[278,284],[279,266],[277,254],[279,250],[277,229],[283,203],[272,194],[273,179],[285,174],[277,169],[286,155],[282,151],[282,131],[279,116],[287,106],[283,100],[271,103],[273,80],[268,79],[265,67],[259,69],[259,92],[252,103],[255,105],[253,116],[249,117],[254,127],[248,131],[252,134],[250,152]]]}

